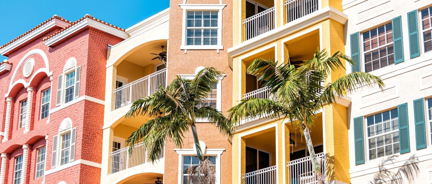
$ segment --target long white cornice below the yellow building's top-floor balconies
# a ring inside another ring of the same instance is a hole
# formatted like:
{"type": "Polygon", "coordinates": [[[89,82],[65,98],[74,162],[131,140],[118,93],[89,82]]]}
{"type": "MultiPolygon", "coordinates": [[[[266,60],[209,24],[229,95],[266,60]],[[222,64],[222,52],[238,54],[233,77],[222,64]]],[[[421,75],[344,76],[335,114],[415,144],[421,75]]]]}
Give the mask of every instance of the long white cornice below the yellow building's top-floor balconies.
{"type": "MultiPolygon", "coordinates": [[[[250,51],[251,49],[269,44],[272,41],[278,40],[286,35],[311,26],[317,22],[321,22],[325,19],[332,19],[336,22],[339,22],[340,24],[345,25],[346,21],[348,20],[348,16],[339,10],[336,10],[332,7],[327,7],[295,21],[289,22],[279,28],[273,29],[255,38],[244,41],[241,44],[235,45],[234,47],[228,49],[228,54],[231,58],[236,57],[246,51],[250,51]]],[[[232,59],[230,59],[229,62],[229,66],[232,66],[232,59]]]]}

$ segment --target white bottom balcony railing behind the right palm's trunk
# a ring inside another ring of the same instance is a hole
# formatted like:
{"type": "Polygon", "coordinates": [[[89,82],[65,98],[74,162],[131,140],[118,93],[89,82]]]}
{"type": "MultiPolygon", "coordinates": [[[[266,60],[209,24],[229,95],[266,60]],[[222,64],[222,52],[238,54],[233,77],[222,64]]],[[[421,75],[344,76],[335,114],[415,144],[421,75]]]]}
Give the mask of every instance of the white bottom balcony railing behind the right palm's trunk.
{"type": "MultiPolygon", "coordinates": [[[[321,172],[326,181],[326,155],[324,152],[316,154],[321,172]]],[[[305,157],[288,162],[288,174],[291,184],[318,184],[316,173],[312,168],[311,157],[305,157]]]]}

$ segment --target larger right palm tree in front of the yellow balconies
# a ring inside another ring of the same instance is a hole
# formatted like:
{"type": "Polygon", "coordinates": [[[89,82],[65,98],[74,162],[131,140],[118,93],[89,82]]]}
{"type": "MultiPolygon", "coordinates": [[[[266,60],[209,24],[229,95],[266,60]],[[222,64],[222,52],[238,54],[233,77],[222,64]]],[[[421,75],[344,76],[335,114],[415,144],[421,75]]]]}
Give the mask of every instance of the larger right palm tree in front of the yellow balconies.
{"type": "Polygon", "coordinates": [[[379,77],[365,72],[349,73],[324,84],[332,71],[345,70],[342,63],[345,61],[353,65],[353,61],[339,51],[327,57],[327,51],[318,49],[312,60],[303,61],[298,68],[292,64],[278,66],[272,60],[254,60],[247,73],[260,76],[260,82],[266,81],[264,87],[270,90],[273,97],[241,100],[229,110],[229,120],[237,124],[245,117],[289,118],[295,128],[302,130],[317,179],[324,182],[309,133],[316,119],[315,113],[324,105],[333,104],[336,97],[343,97],[346,92],[359,87],[384,87],[379,77]]]}

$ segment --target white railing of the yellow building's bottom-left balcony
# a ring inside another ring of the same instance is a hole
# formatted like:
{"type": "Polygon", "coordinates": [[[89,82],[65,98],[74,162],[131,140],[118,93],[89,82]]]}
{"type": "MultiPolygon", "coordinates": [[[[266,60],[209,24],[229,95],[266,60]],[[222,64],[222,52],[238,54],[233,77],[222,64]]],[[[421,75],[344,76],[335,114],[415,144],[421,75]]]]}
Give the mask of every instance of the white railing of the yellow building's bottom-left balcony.
{"type": "Polygon", "coordinates": [[[243,174],[243,184],[276,184],[276,165],[243,174]]]}

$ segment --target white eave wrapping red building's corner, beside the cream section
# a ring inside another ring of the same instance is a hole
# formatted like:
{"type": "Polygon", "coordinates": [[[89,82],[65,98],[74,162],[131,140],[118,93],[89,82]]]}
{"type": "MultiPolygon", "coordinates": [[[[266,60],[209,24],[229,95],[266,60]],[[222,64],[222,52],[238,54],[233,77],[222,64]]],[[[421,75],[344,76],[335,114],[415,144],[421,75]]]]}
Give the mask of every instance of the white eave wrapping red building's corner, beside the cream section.
{"type": "Polygon", "coordinates": [[[51,45],[56,44],[57,42],[63,40],[64,38],[66,38],[70,35],[73,35],[75,32],[79,31],[80,29],[85,28],[86,26],[90,26],[92,28],[99,29],[103,32],[107,32],[111,35],[114,35],[114,36],[117,36],[117,37],[120,37],[123,39],[129,38],[129,35],[124,31],[121,31],[119,29],[115,29],[109,25],[105,25],[105,24],[102,24],[102,23],[97,22],[95,20],[86,18],[86,19],[70,26],[69,28],[65,29],[64,31],[58,33],[57,35],[54,35],[53,37],[48,38],[47,40],[44,41],[44,43],[48,47],[50,47],[51,45]]]}

